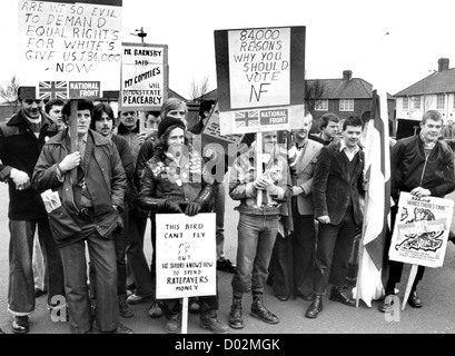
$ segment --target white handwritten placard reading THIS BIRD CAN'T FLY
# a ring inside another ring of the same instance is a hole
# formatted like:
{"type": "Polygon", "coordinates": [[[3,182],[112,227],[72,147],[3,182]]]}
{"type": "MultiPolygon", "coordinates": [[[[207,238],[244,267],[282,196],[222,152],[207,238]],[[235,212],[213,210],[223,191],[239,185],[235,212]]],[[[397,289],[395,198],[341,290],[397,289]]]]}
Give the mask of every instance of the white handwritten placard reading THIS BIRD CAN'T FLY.
{"type": "Polygon", "coordinates": [[[157,298],[216,295],[215,214],[157,214],[157,298]]]}

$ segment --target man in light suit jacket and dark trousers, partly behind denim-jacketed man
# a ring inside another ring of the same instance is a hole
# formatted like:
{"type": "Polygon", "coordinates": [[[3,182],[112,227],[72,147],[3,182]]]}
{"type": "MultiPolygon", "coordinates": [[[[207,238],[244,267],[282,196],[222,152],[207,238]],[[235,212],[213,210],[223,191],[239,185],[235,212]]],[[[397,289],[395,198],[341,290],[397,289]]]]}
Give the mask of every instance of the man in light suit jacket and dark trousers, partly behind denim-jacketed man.
{"type": "Polygon", "coordinates": [[[288,149],[288,164],[293,181],[289,201],[293,230],[289,236],[278,234],[270,263],[273,288],[276,297],[286,301],[291,295],[304,300],[313,299],[315,260],[315,222],[313,204],[313,175],[317,157],[324,145],[308,139],[313,116],[305,111],[303,126],[293,130],[293,145],[288,149]]]}

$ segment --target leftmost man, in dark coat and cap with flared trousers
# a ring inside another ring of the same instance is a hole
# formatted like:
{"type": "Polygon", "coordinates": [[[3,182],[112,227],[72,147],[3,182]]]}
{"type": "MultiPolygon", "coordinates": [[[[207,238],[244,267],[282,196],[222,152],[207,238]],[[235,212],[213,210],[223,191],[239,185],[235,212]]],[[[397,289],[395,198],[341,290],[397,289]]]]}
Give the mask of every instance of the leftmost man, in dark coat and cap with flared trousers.
{"type": "Polygon", "coordinates": [[[41,113],[43,101],[36,97],[33,87],[20,87],[18,96],[22,109],[0,125],[0,180],[8,184],[10,197],[8,310],[13,315],[12,332],[23,334],[29,332],[29,315],[36,307],[32,248],[37,228],[48,268],[51,310],[59,304],[56,296],[62,298],[65,290],[61,258],[44,204],[30,182],[41,149],[57,134],[57,127],[41,113]]]}

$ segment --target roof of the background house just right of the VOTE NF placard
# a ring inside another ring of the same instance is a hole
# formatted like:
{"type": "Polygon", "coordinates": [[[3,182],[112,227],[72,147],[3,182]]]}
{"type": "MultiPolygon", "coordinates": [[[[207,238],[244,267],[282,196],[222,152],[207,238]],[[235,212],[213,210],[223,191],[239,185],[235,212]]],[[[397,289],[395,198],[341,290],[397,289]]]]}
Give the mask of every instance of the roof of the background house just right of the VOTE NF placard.
{"type": "MultiPolygon", "coordinates": [[[[360,78],[346,79],[308,79],[311,85],[318,80],[324,85],[322,99],[370,99],[373,85],[360,78]]],[[[387,100],[393,97],[387,93],[387,100]]]]}

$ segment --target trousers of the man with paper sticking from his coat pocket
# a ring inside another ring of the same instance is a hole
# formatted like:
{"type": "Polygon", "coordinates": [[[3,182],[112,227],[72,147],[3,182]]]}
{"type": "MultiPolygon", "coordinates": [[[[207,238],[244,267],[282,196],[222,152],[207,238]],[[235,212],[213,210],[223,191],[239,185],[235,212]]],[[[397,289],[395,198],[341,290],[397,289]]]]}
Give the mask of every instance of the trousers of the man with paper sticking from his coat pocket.
{"type": "Polygon", "coordinates": [[[95,228],[85,239],[60,247],[71,332],[83,334],[89,332],[92,325],[87,286],[86,241],[96,275],[99,328],[101,332],[112,332],[119,324],[116,247],[113,240],[101,237],[95,228]]]}

